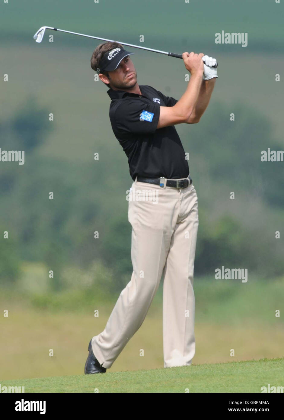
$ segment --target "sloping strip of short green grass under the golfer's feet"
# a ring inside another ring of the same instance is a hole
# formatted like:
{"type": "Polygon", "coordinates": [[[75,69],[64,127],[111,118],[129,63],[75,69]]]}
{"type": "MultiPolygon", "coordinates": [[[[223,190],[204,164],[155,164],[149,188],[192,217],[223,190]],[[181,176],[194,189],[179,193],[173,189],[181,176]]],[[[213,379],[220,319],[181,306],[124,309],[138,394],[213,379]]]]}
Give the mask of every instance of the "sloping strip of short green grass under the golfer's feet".
{"type": "Polygon", "coordinates": [[[191,365],[98,375],[2,381],[25,392],[261,392],[268,383],[283,386],[284,359],[191,365]],[[188,391],[186,391],[188,389],[188,391]]]}

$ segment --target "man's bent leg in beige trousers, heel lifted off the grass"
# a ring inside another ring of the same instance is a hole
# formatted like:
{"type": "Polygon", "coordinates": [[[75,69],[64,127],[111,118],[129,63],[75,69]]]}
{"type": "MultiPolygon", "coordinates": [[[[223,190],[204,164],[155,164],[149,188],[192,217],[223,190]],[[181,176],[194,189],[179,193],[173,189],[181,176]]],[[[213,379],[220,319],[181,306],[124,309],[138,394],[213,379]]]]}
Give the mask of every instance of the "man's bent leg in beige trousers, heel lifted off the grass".
{"type": "Polygon", "coordinates": [[[133,183],[132,187],[158,191],[158,202],[129,201],[133,273],[104,331],[91,341],[95,357],[106,368],[112,366],[146,317],[159,287],[179,209],[179,190],[162,190],[141,182],[133,183]]]}

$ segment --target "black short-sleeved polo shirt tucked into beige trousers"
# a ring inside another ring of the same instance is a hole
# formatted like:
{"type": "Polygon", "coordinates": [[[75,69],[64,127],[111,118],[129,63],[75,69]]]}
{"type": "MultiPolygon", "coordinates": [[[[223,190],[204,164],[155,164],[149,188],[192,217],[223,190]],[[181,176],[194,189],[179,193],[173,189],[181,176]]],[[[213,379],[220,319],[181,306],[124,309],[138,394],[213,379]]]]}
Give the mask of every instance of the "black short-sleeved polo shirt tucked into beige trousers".
{"type": "Polygon", "coordinates": [[[139,87],[142,95],[107,91],[112,130],[128,157],[131,178],[187,178],[188,161],[175,126],[157,129],[160,106],[174,106],[177,100],[151,86],[139,87]]]}

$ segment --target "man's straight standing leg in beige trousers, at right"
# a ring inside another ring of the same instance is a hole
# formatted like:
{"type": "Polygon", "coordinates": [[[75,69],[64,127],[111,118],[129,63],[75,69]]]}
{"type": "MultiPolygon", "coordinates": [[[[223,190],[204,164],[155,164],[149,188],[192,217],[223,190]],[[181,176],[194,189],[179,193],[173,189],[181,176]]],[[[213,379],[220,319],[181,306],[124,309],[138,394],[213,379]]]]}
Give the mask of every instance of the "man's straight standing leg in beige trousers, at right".
{"type": "Polygon", "coordinates": [[[198,201],[193,184],[179,191],[180,212],[164,267],[164,367],[190,365],[195,354],[193,269],[198,201]]]}

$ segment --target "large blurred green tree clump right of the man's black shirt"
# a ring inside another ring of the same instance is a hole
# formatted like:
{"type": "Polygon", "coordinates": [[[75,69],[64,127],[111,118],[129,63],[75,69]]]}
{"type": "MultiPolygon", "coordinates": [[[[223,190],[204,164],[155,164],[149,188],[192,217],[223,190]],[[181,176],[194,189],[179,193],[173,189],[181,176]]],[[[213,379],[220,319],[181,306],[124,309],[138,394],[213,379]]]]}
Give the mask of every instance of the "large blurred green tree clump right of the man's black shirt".
{"type": "MultiPolygon", "coordinates": [[[[284,207],[284,162],[261,162],[261,151],[284,150],[270,120],[245,104],[218,104],[190,128],[190,153],[202,158],[214,182],[240,186],[268,205],[284,207]],[[234,113],[234,121],[230,115],[234,113]]],[[[182,126],[185,137],[186,127],[182,126]]]]}

